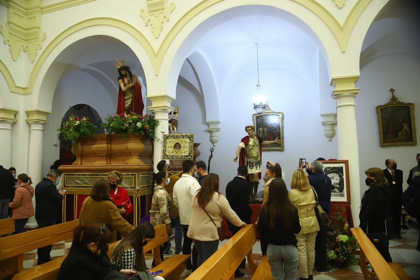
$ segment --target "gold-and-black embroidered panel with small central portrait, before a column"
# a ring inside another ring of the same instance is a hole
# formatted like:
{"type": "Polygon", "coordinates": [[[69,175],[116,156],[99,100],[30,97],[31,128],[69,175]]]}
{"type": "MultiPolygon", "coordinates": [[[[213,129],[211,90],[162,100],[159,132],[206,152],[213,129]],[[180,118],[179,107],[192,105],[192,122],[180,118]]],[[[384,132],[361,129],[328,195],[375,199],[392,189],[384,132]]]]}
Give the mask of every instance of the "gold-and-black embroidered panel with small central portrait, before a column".
{"type": "Polygon", "coordinates": [[[165,160],[192,160],[194,134],[164,134],[162,158],[165,160]]]}

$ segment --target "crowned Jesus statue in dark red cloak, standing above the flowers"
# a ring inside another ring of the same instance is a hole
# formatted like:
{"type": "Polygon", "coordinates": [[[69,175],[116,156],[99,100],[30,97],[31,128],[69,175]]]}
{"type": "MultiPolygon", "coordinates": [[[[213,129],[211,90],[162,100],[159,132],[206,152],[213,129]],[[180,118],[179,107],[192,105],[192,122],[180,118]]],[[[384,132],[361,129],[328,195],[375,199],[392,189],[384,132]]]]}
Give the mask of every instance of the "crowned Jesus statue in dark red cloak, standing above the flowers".
{"type": "Polygon", "coordinates": [[[141,115],[144,109],[142,85],[138,77],[131,73],[130,67],[124,64],[124,60],[118,61],[117,59],[117,63],[115,66],[118,68],[118,83],[120,85],[117,114],[136,113],[141,115]]]}

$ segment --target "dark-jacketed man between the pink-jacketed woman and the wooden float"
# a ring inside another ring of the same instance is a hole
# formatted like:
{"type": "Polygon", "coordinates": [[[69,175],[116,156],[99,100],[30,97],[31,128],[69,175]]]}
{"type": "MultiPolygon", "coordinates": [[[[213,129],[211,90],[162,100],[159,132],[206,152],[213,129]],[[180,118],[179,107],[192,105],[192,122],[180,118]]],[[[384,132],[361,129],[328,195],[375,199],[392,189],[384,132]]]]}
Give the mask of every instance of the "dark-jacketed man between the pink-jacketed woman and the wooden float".
{"type": "MultiPolygon", "coordinates": [[[[39,228],[55,225],[58,207],[64,197],[64,191],[58,192],[53,183],[59,176],[57,170],[51,169],[47,176],[35,186],[35,219],[39,228]]],[[[52,247],[53,245],[48,245],[38,249],[38,265],[51,260],[52,247]]]]}

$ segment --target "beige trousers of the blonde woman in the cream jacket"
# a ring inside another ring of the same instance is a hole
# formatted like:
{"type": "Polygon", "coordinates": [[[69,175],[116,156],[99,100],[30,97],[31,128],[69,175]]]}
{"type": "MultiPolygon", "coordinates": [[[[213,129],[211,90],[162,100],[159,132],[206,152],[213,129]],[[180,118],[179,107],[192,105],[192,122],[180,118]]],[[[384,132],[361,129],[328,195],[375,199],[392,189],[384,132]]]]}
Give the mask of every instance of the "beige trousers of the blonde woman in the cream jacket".
{"type": "Polygon", "coordinates": [[[318,231],[295,234],[297,240],[297,254],[299,255],[300,277],[307,278],[312,275],[315,263],[315,238],[318,231]]]}

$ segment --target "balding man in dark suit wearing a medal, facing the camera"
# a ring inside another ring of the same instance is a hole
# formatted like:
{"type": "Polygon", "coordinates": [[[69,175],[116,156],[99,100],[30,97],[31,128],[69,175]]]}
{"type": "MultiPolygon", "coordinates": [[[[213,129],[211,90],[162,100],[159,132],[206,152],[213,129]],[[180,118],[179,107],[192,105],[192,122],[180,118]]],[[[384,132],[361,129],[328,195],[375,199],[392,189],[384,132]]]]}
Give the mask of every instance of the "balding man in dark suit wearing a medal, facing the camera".
{"type": "Polygon", "coordinates": [[[385,178],[388,180],[388,185],[392,190],[391,209],[389,214],[394,225],[394,232],[396,238],[401,236],[401,206],[402,206],[402,170],[396,169],[396,162],[393,159],[385,161],[386,169],[383,170],[385,178]]]}

